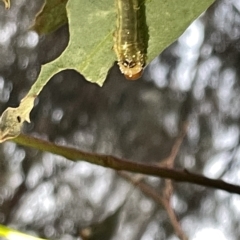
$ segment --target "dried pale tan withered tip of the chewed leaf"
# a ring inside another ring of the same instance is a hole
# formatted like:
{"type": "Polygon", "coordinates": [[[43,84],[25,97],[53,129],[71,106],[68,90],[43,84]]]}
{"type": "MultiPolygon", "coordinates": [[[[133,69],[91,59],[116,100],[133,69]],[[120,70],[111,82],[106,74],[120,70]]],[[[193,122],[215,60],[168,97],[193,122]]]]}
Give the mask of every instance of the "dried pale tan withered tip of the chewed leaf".
{"type": "Polygon", "coordinates": [[[34,105],[34,97],[24,98],[18,108],[7,108],[0,118],[0,143],[17,137],[24,121],[30,122],[29,114],[34,105]]]}

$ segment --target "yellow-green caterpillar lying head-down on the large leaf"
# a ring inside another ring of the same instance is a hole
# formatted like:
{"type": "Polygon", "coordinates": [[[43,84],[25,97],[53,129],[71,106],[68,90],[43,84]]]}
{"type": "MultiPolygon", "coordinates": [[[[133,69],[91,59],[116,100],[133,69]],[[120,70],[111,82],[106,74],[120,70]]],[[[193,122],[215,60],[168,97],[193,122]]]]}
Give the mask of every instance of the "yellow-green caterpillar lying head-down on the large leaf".
{"type": "Polygon", "coordinates": [[[116,1],[117,30],[114,34],[114,50],[121,72],[127,79],[135,80],[142,75],[146,61],[140,0],[116,1]]]}

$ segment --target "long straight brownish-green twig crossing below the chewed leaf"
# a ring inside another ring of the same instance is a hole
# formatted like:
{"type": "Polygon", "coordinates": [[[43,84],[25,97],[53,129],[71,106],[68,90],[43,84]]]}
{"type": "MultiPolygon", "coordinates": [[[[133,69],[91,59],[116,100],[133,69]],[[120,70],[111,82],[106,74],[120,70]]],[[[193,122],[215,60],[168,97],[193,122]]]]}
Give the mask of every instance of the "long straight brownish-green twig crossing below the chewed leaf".
{"type": "Polygon", "coordinates": [[[12,141],[26,147],[32,147],[38,150],[51,152],[72,161],[86,161],[92,164],[112,168],[118,171],[125,170],[129,172],[142,173],[161,178],[168,178],[176,182],[194,183],[197,185],[220,189],[229,193],[236,193],[240,195],[240,186],[226,183],[222,180],[207,178],[200,174],[190,173],[185,169],[176,170],[159,167],[154,164],[132,162],[110,155],[88,153],[71,147],[58,146],[48,141],[26,136],[23,134],[20,134],[17,138],[12,139],[12,141]]]}

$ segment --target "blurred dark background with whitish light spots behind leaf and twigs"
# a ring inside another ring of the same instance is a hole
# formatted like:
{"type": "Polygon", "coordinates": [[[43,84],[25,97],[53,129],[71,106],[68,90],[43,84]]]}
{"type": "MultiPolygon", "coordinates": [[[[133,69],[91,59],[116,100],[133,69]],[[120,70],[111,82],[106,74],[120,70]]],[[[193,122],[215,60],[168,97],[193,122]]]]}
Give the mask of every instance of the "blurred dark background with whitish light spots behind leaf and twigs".
{"type": "MultiPolygon", "coordinates": [[[[1,112],[18,106],[40,65],[67,45],[67,26],[40,38],[28,30],[41,3],[12,0],[11,11],[0,6],[1,112]]],[[[217,1],[138,81],[125,80],[116,64],[102,88],[74,71],[57,74],[38,97],[24,132],[154,162],[170,154],[188,121],[175,167],[238,184],[239,12],[239,1],[217,1]]],[[[0,154],[1,224],[48,239],[81,239],[88,226],[92,239],[177,239],[165,209],[112,170],[11,141],[0,145],[0,154]]],[[[147,181],[161,191],[164,180],[147,181]]],[[[173,186],[172,207],[189,239],[240,238],[238,195],[173,186]]]]}

